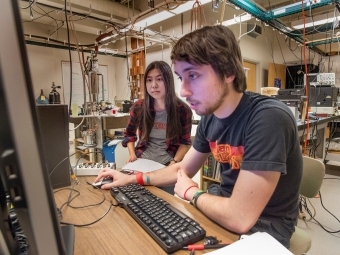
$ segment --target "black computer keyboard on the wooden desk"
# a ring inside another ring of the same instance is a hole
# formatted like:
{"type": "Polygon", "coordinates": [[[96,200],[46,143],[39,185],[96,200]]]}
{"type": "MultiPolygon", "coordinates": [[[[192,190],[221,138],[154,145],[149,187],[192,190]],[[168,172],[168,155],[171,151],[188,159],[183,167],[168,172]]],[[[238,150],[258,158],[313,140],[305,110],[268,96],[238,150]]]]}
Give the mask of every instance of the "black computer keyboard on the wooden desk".
{"type": "Polygon", "coordinates": [[[139,184],[111,188],[111,195],[167,253],[205,237],[197,222],[139,184]]]}

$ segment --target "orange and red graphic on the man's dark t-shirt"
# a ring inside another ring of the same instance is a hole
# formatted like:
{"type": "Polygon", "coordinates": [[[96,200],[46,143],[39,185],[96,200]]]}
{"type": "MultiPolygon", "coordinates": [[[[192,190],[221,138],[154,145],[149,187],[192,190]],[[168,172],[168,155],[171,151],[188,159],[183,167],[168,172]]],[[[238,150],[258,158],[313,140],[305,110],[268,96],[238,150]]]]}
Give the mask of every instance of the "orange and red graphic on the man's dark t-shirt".
{"type": "Polygon", "coordinates": [[[241,167],[244,147],[230,146],[229,144],[218,144],[218,142],[209,142],[211,153],[220,163],[229,163],[231,169],[239,170],[241,167]]]}

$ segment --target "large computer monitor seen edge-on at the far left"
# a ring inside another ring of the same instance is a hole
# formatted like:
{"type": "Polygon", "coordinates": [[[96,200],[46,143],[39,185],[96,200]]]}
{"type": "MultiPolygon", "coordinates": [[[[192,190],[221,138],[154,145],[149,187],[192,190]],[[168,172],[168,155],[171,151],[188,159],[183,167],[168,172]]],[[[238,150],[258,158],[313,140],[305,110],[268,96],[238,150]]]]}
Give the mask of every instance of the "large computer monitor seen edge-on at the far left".
{"type": "Polygon", "coordinates": [[[29,254],[67,254],[42,156],[18,1],[1,1],[0,24],[0,254],[20,254],[11,233],[10,204],[29,254]]]}

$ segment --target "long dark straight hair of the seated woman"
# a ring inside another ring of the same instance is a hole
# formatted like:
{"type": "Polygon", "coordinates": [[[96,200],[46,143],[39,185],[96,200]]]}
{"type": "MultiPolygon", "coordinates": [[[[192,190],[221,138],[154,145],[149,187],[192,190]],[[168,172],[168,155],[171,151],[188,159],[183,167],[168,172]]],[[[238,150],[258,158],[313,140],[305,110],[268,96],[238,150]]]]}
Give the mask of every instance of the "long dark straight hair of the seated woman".
{"type": "MultiPolygon", "coordinates": [[[[146,79],[151,70],[157,69],[164,81],[165,86],[165,109],[167,116],[166,138],[179,137],[182,132],[180,116],[178,116],[177,105],[181,102],[175,93],[175,83],[171,67],[164,61],[154,61],[148,65],[144,74],[144,102],[137,117],[137,127],[142,129],[141,140],[148,141],[154,124],[152,110],[154,110],[155,99],[149,95],[146,89],[146,79]]],[[[185,103],[184,103],[185,104],[185,103]]]]}

